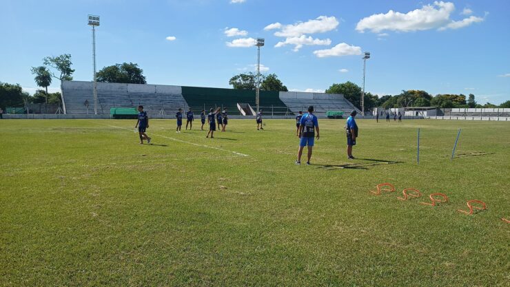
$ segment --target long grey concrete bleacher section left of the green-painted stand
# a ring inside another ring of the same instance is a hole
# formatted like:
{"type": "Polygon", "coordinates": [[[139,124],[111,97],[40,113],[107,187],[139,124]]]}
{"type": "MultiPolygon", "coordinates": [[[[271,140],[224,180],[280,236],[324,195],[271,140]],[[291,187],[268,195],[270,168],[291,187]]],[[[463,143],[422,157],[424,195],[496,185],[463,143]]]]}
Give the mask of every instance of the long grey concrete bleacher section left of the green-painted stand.
{"type": "MultiPolygon", "coordinates": [[[[62,91],[66,114],[94,114],[94,83],[64,81],[62,91]],[[85,101],[88,100],[87,109],[85,101]]],[[[112,107],[143,105],[147,114],[174,114],[187,103],[179,86],[97,83],[97,114],[110,114],[112,107]]]]}

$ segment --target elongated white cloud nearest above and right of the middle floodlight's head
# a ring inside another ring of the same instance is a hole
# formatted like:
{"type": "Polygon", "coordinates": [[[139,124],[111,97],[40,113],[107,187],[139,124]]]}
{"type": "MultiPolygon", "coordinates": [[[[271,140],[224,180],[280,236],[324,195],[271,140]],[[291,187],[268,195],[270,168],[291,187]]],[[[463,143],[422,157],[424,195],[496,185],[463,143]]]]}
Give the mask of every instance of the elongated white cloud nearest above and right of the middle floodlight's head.
{"type": "MultiPolygon", "coordinates": [[[[270,27],[272,29],[278,27],[278,25],[271,24],[266,26],[266,28],[270,27]]],[[[278,23],[279,24],[279,23],[278,23]]],[[[320,16],[317,19],[309,20],[307,22],[299,22],[293,25],[281,25],[280,31],[275,32],[274,36],[278,37],[298,37],[304,34],[316,34],[316,33],[324,33],[329,32],[331,30],[336,29],[338,27],[338,20],[335,17],[326,17],[320,16]]]]}

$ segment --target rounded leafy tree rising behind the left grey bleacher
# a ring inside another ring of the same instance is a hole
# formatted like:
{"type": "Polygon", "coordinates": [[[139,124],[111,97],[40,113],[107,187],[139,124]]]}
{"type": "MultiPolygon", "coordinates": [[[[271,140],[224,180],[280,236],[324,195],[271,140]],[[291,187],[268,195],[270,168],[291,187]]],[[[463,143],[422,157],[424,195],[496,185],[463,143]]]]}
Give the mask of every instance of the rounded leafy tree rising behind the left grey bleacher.
{"type": "Polygon", "coordinates": [[[98,82],[104,83],[126,83],[126,84],[146,84],[143,70],[134,63],[115,64],[103,67],[96,74],[98,82]]]}

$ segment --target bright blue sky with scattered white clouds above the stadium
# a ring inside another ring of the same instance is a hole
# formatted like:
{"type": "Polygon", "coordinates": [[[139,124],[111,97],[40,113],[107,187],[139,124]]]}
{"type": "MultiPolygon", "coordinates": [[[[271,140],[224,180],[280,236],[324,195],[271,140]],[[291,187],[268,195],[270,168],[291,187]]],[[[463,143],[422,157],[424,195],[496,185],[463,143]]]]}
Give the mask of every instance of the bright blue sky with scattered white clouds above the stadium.
{"type": "MultiPolygon", "coordinates": [[[[36,85],[30,67],[72,55],[74,80],[92,79],[92,32],[101,16],[98,70],[138,63],[147,83],[230,87],[261,63],[291,90],[363,81],[366,90],[510,100],[510,1],[0,0],[0,81],[36,85]],[[237,2],[237,3],[234,3],[237,2]],[[168,38],[170,37],[170,38],[168,38]],[[168,38],[168,39],[167,39],[168,38]],[[247,46],[247,47],[243,47],[247,46]]],[[[58,81],[50,90],[59,89],[58,81]]]]}

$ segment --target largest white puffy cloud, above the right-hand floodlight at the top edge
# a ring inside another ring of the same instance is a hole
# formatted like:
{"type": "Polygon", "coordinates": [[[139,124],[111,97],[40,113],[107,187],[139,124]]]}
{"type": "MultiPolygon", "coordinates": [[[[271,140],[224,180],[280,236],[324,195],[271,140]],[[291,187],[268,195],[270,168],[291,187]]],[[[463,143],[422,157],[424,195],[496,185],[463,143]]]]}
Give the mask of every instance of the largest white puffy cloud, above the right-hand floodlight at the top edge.
{"type": "Polygon", "coordinates": [[[386,14],[373,14],[358,22],[356,30],[370,30],[379,33],[383,30],[410,32],[440,28],[449,22],[455,6],[451,2],[434,1],[433,5],[422,6],[407,13],[389,10],[386,14]]]}

